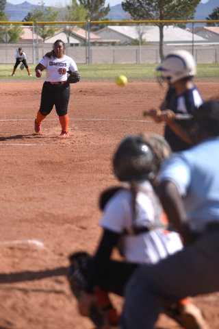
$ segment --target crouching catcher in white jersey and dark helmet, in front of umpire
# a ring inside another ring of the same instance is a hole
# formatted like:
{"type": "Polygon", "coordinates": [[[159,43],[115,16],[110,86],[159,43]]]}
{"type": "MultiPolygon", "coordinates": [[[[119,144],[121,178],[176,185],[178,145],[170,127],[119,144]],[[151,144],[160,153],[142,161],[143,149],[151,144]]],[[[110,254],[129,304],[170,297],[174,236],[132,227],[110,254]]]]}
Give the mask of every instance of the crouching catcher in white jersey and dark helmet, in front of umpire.
{"type": "MultiPolygon", "coordinates": [[[[101,196],[103,236],[99,247],[90,265],[83,256],[79,263],[77,255],[70,258],[73,263],[68,279],[73,292],[75,276],[80,276],[78,269],[86,277],[85,291],[79,297],[81,315],[92,318],[89,308],[98,297],[99,305],[109,312],[110,324],[118,324],[107,291],[123,296],[125,284],[140,264],[156,264],[183,248],[179,234],[166,230],[161,220],[162,207],[153,188],[157,171],[170,151],[164,138],[155,134],[127,136],[118,146],[114,173],[123,185],[101,196]],[[110,259],[114,247],[118,247],[124,262],[110,259]]],[[[205,320],[188,298],[166,305],[166,314],[185,328],[207,328],[198,326],[205,320]]]]}

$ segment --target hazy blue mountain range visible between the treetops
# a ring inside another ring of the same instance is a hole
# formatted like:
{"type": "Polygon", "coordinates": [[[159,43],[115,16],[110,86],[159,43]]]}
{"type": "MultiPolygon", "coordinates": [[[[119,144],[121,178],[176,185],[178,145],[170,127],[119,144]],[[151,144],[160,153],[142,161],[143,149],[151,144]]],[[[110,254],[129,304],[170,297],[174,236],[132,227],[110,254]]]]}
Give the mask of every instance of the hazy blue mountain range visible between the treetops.
{"type": "MultiPolygon", "coordinates": [[[[207,3],[199,3],[196,8],[194,21],[205,21],[206,17],[211,14],[212,10],[218,6],[218,0],[209,0],[207,3]]],[[[21,3],[20,5],[12,5],[12,3],[7,2],[5,5],[5,12],[8,12],[8,14],[11,15],[10,21],[23,21],[28,12],[31,11],[31,7],[38,7],[38,5],[32,5],[27,1],[21,3]]],[[[49,7],[45,6],[45,8],[49,7]]],[[[129,14],[123,10],[121,4],[112,6],[106,17],[112,21],[123,21],[123,19],[130,19],[129,14]]]]}

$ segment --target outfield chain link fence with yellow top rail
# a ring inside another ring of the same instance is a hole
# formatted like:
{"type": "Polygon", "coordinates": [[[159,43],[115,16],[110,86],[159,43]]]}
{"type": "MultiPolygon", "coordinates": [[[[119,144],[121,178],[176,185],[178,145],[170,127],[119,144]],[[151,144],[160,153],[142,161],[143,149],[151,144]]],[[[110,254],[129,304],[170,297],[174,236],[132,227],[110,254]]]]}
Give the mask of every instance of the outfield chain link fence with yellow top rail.
{"type": "Polygon", "coordinates": [[[18,47],[26,53],[28,64],[38,64],[44,54],[53,49],[57,39],[65,42],[66,55],[77,64],[158,64],[162,56],[175,49],[190,51],[196,63],[219,62],[219,27],[215,26],[219,21],[162,22],[162,47],[159,42],[161,22],[157,22],[38,22],[35,25],[25,22],[29,26],[25,26],[25,34],[21,34],[16,43],[7,40],[9,31],[16,24],[24,28],[21,24],[25,23],[0,22],[0,64],[14,64],[18,47]],[[55,32],[43,39],[40,27],[47,29],[49,24],[56,26],[55,32]]]}

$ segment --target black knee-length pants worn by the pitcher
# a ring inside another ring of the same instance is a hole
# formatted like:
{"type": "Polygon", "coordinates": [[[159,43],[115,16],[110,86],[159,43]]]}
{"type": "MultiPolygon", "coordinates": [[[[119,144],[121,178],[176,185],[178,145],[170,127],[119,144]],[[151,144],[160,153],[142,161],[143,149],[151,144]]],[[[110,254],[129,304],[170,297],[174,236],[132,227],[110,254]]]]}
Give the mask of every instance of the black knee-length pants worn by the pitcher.
{"type": "Polygon", "coordinates": [[[55,105],[57,115],[63,117],[68,112],[69,98],[70,85],[68,83],[51,84],[45,81],[42,86],[40,113],[48,115],[55,105]]]}

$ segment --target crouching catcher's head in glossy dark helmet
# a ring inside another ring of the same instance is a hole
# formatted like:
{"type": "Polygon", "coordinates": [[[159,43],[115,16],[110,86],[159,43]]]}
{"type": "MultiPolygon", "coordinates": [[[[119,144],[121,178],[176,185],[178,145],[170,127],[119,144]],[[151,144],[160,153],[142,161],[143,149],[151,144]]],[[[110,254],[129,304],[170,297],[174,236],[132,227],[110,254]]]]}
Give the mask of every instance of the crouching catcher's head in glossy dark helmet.
{"type": "Polygon", "coordinates": [[[153,180],[160,164],[169,155],[170,146],[159,135],[127,136],[114,154],[114,173],[122,182],[153,180]]]}

